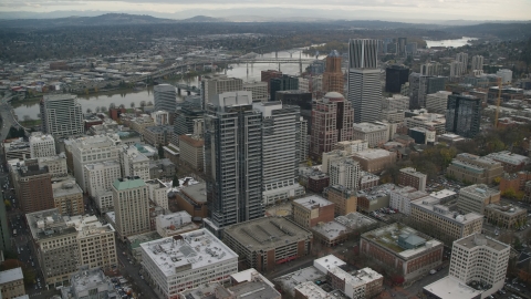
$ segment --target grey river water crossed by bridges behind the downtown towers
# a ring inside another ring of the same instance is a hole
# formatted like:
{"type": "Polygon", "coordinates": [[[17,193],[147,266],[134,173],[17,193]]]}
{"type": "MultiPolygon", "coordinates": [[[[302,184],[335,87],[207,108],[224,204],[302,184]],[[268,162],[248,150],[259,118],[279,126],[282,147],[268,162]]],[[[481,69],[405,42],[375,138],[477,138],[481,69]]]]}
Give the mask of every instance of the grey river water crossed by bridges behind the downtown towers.
{"type": "MultiPolygon", "coordinates": [[[[279,51],[278,53],[264,53],[262,54],[262,58],[274,58],[275,55],[278,58],[290,58],[290,55],[295,59],[295,58],[303,58],[303,59],[309,59],[309,58],[315,58],[315,56],[310,56],[308,54],[302,53],[302,50],[291,50],[294,51],[292,54],[288,51],[279,51]]],[[[319,59],[323,59],[324,55],[321,55],[319,59]]],[[[278,63],[256,63],[253,65],[249,64],[232,64],[230,65],[232,69],[227,70],[227,75],[228,76],[233,76],[233,78],[240,78],[243,80],[243,82],[249,82],[249,81],[260,81],[260,73],[263,70],[279,70],[279,64],[278,63]]],[[[302,68],[303,70],[308,66],[308,63],[303,63],[302,68]]],[[[298,75],[299,74],[299,63],[287,63],[287,64],[281,64],[280,70],[284,74],[290,74],[290,75],[298,75]]],[[[223,71],[225,73],[225,71],[223,71]]],[[[190,85],[196,85],[199,86],[199,79],[196,78],[190,78],[190,79],[177,79],[174,80],[175,83],[187,83],[190,85]]],[[[177,95],[178,97],[183,99],[183,96],[186,96],[186,92],[183,92],[181,95],[177,95]]],[[[131,107],[131,103],[135,103],[136,107],[140,106],[140,102],[145,101],[147,102],[153,102],[153,86],[148,86],[146,89],[139,90],[139,91],[122,91],[122,92],[106,92],[106,93],[95,93],[95,94],[88,94],[88,95],[77,95],[77,102],[82,105],[83,112],[86,112],[86,110],[92,110],[93,112],[96,110],[96,107],[105,106],[108,109],[111,103],[114,103],[116,106],[123,104],[125,105],[126,109],[131,107]]],[[[14,113],[17,114],[19,120],[23,120],[24,116],[30,116],[33,120],[39,118],[39,101],[32,101],[32,102],[12,102],[11,103],[14,110],[14,113]]]]}

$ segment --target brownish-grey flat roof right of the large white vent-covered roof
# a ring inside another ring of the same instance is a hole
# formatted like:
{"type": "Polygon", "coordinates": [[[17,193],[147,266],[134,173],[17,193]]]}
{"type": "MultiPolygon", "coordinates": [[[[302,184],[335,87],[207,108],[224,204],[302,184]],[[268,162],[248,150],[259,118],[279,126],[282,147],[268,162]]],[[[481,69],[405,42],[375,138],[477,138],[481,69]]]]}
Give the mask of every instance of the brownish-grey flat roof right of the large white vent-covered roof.
{"type": "Polygon", "coordinates": [[[262,217],[225,228],[238,243],[251,251],[269,250],[312,238],[312,233],[284,217],[262,217]]]}

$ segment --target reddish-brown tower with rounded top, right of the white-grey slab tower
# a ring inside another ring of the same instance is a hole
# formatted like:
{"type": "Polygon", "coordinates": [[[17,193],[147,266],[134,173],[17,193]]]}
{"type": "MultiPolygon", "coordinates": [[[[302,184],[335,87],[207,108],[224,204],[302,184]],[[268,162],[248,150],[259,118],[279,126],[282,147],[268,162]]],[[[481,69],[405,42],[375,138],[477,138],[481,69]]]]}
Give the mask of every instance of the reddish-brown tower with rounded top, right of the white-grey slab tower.
{"type": "Polygon", "coordinates": [[[353,109],[341,93],[329,92],[312,107],[310,156],[317,159],[337,142],[353,136],[353,109]]]}

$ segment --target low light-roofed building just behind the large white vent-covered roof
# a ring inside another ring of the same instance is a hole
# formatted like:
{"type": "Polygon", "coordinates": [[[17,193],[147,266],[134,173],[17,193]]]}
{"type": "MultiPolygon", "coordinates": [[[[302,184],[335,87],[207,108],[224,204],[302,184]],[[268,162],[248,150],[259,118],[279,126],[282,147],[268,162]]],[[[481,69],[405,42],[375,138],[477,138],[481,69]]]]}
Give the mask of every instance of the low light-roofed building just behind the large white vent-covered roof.
{"type": "Polygon", "coordinates": [[[186,213],[186,210],[159,215],[156,217],[155,223],[157,233],[163,238],[180,235],[199,228],[199,225],[191,221],[191,216],[186,213]]]}

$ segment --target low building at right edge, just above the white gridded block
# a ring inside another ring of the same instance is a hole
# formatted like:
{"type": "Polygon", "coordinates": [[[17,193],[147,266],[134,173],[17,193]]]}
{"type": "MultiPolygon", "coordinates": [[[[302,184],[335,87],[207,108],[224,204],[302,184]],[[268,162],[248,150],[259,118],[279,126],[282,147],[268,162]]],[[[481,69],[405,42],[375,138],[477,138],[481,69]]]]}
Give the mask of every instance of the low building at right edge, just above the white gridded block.
{"type": "Polygon", "coordinates": [[[489,204],[485,207],[485,217],[497,227],[513,229],[525,225],[528,210],[509,204],[489,204]]]}

